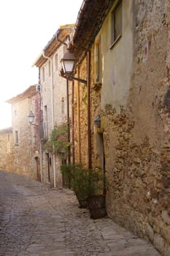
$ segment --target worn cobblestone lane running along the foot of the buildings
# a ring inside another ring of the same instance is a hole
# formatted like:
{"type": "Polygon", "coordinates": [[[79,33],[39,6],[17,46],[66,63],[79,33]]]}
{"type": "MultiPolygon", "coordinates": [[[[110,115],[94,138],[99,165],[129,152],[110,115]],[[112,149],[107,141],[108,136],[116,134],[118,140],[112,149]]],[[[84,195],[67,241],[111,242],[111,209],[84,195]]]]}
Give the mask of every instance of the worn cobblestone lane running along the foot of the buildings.
{"type": "Polygon", "coordinates": [[[0,171],[1,256],[158,256],[108,217],[90,219],[69,189],[0,171]]]}

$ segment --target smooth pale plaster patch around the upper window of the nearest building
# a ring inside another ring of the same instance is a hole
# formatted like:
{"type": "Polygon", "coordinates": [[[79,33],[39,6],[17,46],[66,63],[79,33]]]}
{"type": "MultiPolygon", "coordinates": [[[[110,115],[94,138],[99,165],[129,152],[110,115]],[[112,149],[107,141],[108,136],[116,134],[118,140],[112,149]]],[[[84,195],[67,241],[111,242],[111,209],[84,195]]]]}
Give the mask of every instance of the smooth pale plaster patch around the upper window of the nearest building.
{"type": "MultiPolygon", "coordinates": [[[[117,1],[115,1],[117,4],[117,1]]],[[[112,6],[112,10],[115,7],[112,6]]],[[[112,10],[101,28],[101,53],[103,54],[103,85],[101,108],[111,104],[117,111],[126,105],[131,86],[133,68],[133,1],[123,1],[122,36],[111,47],[112,10]]]]}

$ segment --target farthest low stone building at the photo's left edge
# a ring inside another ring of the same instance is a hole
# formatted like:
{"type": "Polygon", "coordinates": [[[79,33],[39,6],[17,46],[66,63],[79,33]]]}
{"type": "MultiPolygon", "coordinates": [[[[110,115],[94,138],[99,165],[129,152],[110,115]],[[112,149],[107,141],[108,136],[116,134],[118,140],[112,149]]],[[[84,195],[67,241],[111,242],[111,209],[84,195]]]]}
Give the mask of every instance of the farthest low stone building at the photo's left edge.
{"type": "Polygon", "coordinates": [[[12,170],[13,162],[13,136],[12,127],[0,130],[0,169],[12,170]]]}

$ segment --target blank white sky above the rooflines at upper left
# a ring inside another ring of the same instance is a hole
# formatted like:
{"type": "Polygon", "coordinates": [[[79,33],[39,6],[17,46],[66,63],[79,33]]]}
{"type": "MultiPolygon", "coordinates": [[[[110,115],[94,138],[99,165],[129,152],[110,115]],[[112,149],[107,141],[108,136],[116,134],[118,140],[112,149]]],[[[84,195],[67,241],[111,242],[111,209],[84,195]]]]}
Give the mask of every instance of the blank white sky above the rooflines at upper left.
{"type": "Polygon", "coordinates": [[[0,129],[10,127],[5,101],[38,83],[37,56],[61,25],[75,23],[82,0],[0,1],[0,129]]]}

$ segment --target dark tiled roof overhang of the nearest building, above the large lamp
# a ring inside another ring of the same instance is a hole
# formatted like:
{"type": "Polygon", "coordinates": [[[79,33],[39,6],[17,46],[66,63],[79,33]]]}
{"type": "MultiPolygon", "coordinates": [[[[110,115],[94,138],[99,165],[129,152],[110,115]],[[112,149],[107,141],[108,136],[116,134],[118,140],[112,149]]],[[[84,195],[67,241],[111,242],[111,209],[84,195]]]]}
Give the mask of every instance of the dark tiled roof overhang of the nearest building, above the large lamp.
{"type": "Polygon", "coordinates": [[[115,0],[84,0],[77,16],[69,49],[77,59],[90,50],[115,0]]]}

